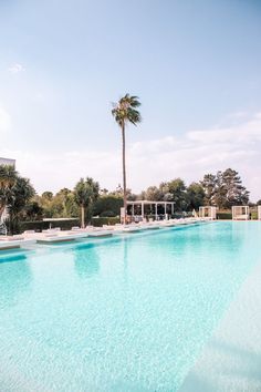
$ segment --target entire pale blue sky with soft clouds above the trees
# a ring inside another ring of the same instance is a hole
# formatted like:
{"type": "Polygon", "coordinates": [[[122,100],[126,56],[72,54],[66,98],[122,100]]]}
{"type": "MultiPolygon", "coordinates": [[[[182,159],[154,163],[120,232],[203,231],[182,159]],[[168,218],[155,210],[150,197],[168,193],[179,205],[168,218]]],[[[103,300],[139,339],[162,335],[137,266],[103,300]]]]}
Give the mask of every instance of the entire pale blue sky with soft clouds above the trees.
{"type": "Polygon", "coordinates": [[[122,183],[112,102],[129,92],[128,186],[232,167],[261,198],[259,0],[0,0],[0,156],[38,192],[122,183]]]}

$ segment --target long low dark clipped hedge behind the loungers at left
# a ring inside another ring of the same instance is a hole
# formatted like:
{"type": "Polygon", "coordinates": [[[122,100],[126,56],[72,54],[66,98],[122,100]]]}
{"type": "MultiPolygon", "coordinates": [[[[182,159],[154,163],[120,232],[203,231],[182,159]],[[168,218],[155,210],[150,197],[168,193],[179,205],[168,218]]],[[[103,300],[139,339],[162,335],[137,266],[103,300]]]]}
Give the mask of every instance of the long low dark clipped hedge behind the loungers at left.
{"type": "MultiPolygon", "coordinates": [[[[61,227],[61,230],[70,230],[73,226],[80,226],[79,219],[73,220],[55,220],[51,223],[51,227],[61,227]]],[[[23,233],[25,230],[42,231],[50,228],[50,221],[46,220],[31,220],[31,221],[20,221],[20,230],[23,233]]]]}

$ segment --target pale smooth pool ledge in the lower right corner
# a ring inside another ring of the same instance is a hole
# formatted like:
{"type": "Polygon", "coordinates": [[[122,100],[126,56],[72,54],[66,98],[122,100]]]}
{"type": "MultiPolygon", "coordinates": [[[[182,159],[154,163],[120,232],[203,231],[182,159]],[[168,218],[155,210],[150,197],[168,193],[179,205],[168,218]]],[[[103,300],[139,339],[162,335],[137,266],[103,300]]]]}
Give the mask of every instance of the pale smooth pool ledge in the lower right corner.
{"type": "Polygon", "coordinates": [[[261,261],[242,285],[179,392],[260,391],[261,261]]]}

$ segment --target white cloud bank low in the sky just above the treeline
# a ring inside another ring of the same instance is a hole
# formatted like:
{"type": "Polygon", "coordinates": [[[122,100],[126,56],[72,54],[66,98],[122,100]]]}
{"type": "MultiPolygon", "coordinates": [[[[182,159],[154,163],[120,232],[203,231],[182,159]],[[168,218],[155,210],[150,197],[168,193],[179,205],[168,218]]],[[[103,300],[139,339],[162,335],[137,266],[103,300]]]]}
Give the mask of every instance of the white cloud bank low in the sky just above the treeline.
{"type": "MultiPolygon", "coordinates": [[[[72,151],[55,156],[10,152],[9,155],[17,157],[18,169],[40,192],[73,187],[80,177],[87,175],[111,189],[122,183],[121,151],[72,151]]],[[[128,145],[127,184],[139,192],[178,176],[189,183],[201,179],[206,173],[232,167],[251,190],[251,199],[257,200],[261,198],[260,162],[261,114],[258,113],[230,127],[191,131],[180,137],[144,140],[128,145]]]]}

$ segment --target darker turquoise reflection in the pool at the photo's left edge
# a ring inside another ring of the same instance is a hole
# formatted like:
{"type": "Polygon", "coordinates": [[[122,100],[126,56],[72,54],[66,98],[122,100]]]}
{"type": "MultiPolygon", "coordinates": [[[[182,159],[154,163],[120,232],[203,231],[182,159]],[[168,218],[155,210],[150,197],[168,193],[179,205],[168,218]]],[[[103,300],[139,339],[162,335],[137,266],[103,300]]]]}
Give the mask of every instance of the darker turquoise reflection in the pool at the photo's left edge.
{"type": "Polygon", "coordinates": [[[32,272],[25,254],[0,259],[0,308],[15,306],[32,283],[32,272]]]}

